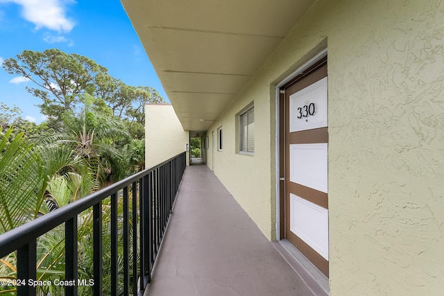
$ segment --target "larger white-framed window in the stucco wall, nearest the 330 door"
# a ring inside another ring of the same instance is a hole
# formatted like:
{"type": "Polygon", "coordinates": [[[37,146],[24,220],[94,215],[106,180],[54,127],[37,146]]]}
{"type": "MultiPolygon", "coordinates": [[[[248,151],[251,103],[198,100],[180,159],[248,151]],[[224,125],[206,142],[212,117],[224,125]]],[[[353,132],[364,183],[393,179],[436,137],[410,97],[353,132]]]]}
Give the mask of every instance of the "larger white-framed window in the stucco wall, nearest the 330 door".
{"type": "Polygon", "coordinates": [[[255,107],[239,115],[239,152],[255,152],[255,107]]]}

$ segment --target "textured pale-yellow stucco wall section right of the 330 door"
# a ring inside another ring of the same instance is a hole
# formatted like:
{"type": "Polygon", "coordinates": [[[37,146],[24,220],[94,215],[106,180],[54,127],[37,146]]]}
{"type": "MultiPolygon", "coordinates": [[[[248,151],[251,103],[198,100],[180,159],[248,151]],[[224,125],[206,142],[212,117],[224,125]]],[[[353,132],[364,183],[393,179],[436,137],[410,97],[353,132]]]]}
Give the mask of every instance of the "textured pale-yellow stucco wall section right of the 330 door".
{"type": "Polygon", "coordinates": [[[332,295],[443,295],[444,5],[357,2],[328,39],[332,295]]]}

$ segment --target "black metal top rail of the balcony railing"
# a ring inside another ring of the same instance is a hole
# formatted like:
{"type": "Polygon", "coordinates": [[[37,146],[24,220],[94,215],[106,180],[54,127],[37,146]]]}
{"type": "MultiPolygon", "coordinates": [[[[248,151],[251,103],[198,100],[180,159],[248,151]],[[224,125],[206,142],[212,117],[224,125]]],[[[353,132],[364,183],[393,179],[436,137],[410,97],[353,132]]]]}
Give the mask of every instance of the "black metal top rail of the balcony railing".
{"type": "Polygon", "coordinates": [[[26,245],[28,241],[31,241],[32,239],[37,238],[46,232],[49,232],[49,230],[57,227],[58,225],[65,223],[67,220],[74,218],[82,211],[85,211],[89,207],[92,207],[94,204],[99,203],[101,200],[108,198],[108,196],[112,195],[112,193],[116,193],[120,189],[129,186],[133,182],[137,182],[137,180],[148,175],[152,171],[155,171],[155,169],[160,168],[164,164],[171,162],[171,160],[182,155],[183,153],[185,152],[179,153],[178,155],[171,157],[161,164],[157,164],[156,166],[153,166],[151,168],[146,168],[144,171],[136,173],[135,175],[132,175],[130,177],[127,177],[126,179],[100,189],[99,191],[89,194],[84,198],[80,198],[75,202],[71,202],[65,207],[60,207],[59,209],[51,211],[51,213],[49,214],[41,216],[4,234],[1,234],[0,258],[3,258],[3,256],[6,256],[7,254],[14,252],[15,250],[18,250],[20,247],[26,245]]]}

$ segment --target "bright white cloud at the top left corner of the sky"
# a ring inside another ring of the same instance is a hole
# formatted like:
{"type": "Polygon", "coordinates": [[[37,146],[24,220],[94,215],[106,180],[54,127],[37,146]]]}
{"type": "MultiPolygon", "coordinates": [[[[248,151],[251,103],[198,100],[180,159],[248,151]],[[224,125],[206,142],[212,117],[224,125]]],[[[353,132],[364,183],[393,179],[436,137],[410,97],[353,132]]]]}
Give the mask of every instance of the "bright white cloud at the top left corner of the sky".
{"type": "Polygon", "coordinates": [[[22,6],[22,16],[35,24],[35,29],[48,28],[58,32],[70,32],[74,21],[65,15],[63,0],[0,0],[0,3],[17,3],[22,6]]]}

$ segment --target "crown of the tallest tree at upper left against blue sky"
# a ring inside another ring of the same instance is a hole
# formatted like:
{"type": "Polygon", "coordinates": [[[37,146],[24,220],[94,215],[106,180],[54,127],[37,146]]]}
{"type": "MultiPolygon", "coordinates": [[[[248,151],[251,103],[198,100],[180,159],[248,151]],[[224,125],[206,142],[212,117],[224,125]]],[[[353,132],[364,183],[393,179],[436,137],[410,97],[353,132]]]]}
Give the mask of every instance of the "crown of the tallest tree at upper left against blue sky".
{"type": "Polygon", "coordinates": [[[60,121],[65,110],[75,111],[78,95],[93,94],[96,77],[108,71],[83,55],[59,49],[23,51],[17,59],[6,59],[3,69],[28,78],[38,86],[26,89],[42,100],[39,107],[50,121],[60,121]]]}

